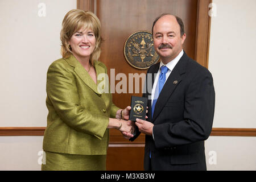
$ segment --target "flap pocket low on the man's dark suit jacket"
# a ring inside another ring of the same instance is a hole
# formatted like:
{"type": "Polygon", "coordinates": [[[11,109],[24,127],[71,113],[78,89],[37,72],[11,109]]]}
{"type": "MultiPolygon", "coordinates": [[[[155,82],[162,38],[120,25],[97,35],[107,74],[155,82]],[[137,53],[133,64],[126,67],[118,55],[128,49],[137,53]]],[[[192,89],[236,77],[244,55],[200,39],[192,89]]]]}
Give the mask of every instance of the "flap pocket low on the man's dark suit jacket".
{"type": "Polygon", "coordinates": [[[199,163],[199,154],[171,155],[170,163],[175,164],[196,164],[199,163]]]}

